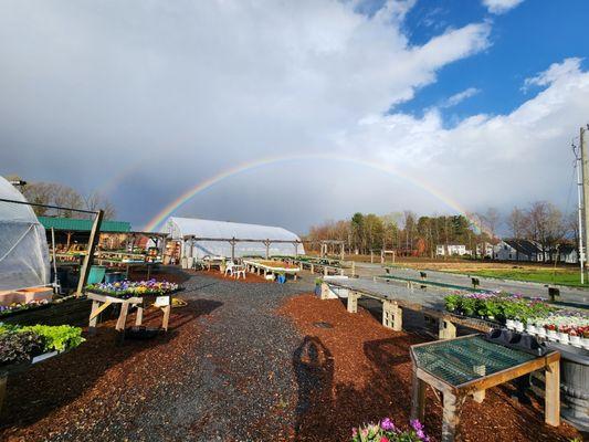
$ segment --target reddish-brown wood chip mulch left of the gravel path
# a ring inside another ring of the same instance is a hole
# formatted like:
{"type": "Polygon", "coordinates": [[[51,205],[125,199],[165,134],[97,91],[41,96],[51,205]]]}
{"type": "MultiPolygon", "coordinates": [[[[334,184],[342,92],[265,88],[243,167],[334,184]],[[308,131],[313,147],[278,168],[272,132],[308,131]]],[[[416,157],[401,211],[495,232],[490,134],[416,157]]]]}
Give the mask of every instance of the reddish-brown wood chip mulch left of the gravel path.
{"type": "MultiPolygon", "coordinates": [[[[96,336],[73,351],[11,376],[0,440],[96,440],[96,433],[109,428],[104,440],[112,440],[114,427],[122,434],[130,431],[141,439],[141,429],[134,428],[134,421],[158,393],[185,381],[181,366],[193,364],[185,359],[200,339],[196,319],[208,317],[215,304],[189,301],[185,307],[172,308],[170,332],[123,345],[116,344],[116,319],[106,320],[96,336]]],[[[127,326],[132,324],[135,315],[129,315],[127,326]]],[[[144,325],[160,324],[161,312],[148,309],[144,325]]]]}

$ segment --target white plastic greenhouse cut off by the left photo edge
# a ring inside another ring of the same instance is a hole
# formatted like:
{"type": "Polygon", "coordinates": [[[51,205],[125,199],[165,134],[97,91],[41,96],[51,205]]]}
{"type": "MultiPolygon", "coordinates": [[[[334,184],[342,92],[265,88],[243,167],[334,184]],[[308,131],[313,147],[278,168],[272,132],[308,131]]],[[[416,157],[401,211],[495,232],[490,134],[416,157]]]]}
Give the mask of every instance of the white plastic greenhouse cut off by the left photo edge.
{"type": "MultiPolygon", "coordinates": [[[[0,177],[0,198],[27,201],[0,177]]],[[[46,285],[50,280],[45,229],[31,206],[0,201],[0,291],[46,285]]]]}

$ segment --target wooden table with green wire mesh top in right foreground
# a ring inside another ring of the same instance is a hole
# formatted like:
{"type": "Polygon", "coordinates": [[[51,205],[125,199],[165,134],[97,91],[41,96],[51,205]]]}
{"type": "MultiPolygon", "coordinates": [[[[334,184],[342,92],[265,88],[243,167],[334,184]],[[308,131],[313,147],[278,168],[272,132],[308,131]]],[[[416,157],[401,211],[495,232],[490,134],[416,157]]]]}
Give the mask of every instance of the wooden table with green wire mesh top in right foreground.
{"type": "Polygon", "coordinates": [[[485,340],[482,335],[411,346],[413,398],[411,419],[423,421],[425,386],[443,396],[442,442],[454,441],[460,413],[469,396],[482,402],[485,390],[536,370],[546,370],[545,421],[560,423],[560,354],[544,356],[485,340]]]}

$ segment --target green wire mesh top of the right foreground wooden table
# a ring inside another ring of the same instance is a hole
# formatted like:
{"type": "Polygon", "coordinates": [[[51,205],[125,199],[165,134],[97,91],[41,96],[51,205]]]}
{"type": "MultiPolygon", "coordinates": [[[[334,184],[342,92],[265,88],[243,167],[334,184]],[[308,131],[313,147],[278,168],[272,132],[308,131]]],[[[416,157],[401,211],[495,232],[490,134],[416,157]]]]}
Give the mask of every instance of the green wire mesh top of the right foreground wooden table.
{"type": "Polygon", "coordinates": [[[481,336],[438,340],[414,346],[411,351],[419,368],[453,387],[537,358],[481,336]]]}

